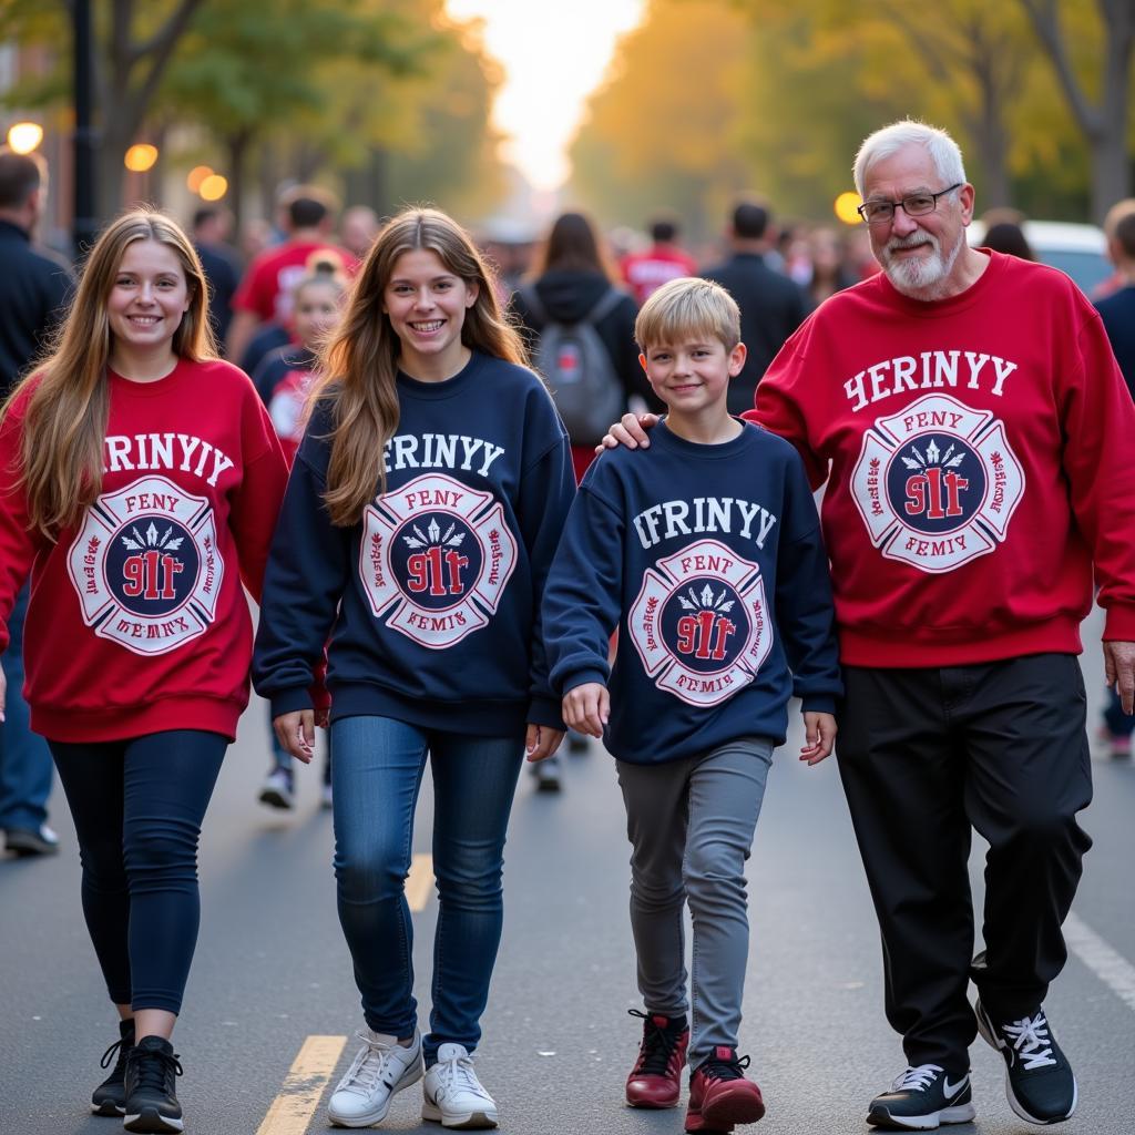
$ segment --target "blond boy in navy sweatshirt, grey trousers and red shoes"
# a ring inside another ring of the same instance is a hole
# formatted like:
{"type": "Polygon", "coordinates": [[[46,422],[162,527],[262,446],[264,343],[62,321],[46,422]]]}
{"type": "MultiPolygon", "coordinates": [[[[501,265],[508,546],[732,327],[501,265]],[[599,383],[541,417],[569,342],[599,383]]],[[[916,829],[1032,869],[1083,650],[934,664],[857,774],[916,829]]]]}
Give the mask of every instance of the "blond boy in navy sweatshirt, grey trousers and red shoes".
{"type": "Polygon", "coordinates": [[[544,596],[565,722],[617,762],[631,857],[631,928],[646,1012],[627,1081],[632,1107],[678,1103],[688,1132],[764,1115],[738,1058],[749,933],[745,861],[788,701],[800,759],[823,760],[841,692],[827,556],[804,465],[787,442],[731,418],[745,363],[729,293],[676,279],[634,335],[670,409],[646,451],[588,470],[544,596]],[[619,649],[607,645],[619,628],[619,649]],[[692,1037],[682,905],[693,923],[692,1037]]]}

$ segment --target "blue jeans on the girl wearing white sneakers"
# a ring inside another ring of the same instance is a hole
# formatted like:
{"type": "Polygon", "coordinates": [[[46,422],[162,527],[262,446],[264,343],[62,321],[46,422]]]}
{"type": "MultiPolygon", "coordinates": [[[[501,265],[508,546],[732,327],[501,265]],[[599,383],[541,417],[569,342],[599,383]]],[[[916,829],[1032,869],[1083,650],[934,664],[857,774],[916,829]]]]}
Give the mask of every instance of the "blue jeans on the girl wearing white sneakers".
{"type": "Polygon", "coordinates": [[[438,916],[423,1049],[427,1065],[449,1041],[472,1051],[501,944],[504,841],[523,733],[469,737],[389,717],[346,717],[331,725],[331,748],[339,922],[367,1024],[398,1037],[413,1035],[418,1020],[404,888],[430,756],[438,916]]]}

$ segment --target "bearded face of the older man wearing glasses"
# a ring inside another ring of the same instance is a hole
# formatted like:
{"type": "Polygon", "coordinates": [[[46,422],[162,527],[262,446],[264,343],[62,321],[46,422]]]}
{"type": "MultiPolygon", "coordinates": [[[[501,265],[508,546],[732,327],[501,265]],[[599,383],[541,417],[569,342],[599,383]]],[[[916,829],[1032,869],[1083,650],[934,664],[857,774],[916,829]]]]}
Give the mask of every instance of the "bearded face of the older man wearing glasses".
{"type": "MultiPolygon", "coordinates": [[[[911,144],[876,161],[866,174],[864,200],[901,201],[947,187],[924,146],[911,144]]],[[[935,300],[962,291],[962,250],[973,217],[974,190],[938,199],[933,212],[909,217],[896,209],[883,225],[872,225],[871,245],[894,287],[916,300],[935,300]]]]}

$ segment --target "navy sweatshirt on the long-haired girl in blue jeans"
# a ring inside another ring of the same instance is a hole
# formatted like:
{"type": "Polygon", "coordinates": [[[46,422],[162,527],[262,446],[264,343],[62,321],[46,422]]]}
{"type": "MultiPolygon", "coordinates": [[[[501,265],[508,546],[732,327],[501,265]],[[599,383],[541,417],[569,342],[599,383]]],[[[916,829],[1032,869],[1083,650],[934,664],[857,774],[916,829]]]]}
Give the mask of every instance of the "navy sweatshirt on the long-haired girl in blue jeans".
{"type": "Polygon", "coordinates": [[[539,613],[575,489],[552,398],[531,371],[476,353],[444,382],[397,382],[386,493],[351,528],[322,502],[330,409],[312,413],[264,578],[257,691],[272,716],[311,708],[330,633],[333,721],[562,729],[539,613]]]}

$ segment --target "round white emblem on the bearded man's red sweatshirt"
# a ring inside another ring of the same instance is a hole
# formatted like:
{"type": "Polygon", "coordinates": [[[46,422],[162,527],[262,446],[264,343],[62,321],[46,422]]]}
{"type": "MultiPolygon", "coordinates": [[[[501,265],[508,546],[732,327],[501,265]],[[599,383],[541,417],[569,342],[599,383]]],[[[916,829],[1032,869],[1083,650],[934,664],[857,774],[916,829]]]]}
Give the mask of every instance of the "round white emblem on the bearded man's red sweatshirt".
{"type": "Polygon", "coordinates": [[[933,573],[993,552],[1025,491],[1004,426],[944,394],[877,419],[851,484],[875,547],[933,573]]]}

